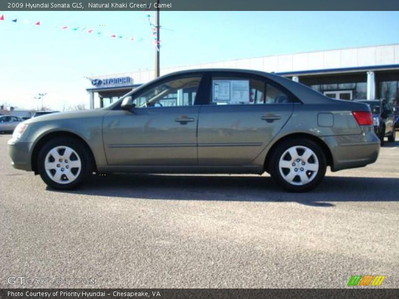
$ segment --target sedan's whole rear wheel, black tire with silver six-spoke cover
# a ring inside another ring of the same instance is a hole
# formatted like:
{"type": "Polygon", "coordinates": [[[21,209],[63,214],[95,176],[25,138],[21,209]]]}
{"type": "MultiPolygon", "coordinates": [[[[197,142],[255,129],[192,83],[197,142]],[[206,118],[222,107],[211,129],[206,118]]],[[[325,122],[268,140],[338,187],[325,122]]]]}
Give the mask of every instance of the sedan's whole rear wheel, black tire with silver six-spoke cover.
{"type": "Polygon", "coordinates": [[[270,165],[272,178],[293,192],[315,188],[324,178],[327,168],[323,150],[311,140],[298,138],[279,144],[271,155],[270,165]]]}

